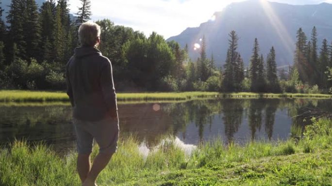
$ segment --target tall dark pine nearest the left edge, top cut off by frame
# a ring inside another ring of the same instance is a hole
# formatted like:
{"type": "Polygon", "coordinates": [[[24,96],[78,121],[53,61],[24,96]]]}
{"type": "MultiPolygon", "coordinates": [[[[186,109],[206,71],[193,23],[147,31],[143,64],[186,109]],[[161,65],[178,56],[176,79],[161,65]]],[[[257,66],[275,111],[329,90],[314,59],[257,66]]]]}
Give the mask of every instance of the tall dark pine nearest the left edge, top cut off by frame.
{"type": "MultiPolygon", "coordinates": [[[[8,36],[9,36],[9,48],[15,48],[14,43],[16,44],[17,51],[10,51],[10,56],[14,56],[14,52],[17,52],[15,56],[21,59],[27,59],[26,56],[26,41],[24,39],[23,25],[26,16],[26,8],[23,0],[12,0],[11,5],[9,6],[9,14],[6,17],[8,26],[8,36]]],[[[9,57],[9,61],[13,61],[9,57]]]]}

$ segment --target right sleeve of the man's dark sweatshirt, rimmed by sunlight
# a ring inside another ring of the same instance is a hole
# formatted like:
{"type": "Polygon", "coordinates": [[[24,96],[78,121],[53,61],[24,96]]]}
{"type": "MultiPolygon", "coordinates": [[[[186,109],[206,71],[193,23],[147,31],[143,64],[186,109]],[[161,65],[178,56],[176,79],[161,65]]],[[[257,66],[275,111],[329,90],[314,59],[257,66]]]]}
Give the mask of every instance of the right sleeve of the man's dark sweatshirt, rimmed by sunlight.
{"type": "Polygon", "coordinates": [[[113,81],[112,64],[109,60],[107,60],[101,69],[100,86],[109,114],[112,117],[117,117],[116,91],[113,81]]]}

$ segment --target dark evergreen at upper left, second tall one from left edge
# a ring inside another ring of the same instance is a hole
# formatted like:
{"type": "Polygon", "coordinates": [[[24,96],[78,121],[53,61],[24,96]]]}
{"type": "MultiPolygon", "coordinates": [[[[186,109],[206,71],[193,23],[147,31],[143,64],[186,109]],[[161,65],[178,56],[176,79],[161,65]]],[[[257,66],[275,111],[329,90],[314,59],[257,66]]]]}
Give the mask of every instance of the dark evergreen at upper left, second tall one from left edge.
{"type": "Polygon", "coordinates": [[[37,4],[35,0],[26,0],[26,20],[24,20],[23,24],[23,33],[24,40],[26,41],[26,51],[27,57],[41,59],[40,56],[40,42],[41,42],[41,28],[39,24],[39,14],[37,11],[37,4]]]}

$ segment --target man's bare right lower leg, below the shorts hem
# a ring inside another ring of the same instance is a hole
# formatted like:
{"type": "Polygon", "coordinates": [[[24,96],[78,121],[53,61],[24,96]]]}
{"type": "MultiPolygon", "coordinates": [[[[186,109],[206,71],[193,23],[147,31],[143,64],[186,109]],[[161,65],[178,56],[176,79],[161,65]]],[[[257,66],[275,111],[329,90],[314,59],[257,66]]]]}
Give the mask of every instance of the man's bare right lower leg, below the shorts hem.
{"type": "Polygon", "coordinates": [[[92,168],[83,183],[83,186],[95,186],[99,173],[106,167],[113,154],[99,153],[93,160],[92,168]]]}

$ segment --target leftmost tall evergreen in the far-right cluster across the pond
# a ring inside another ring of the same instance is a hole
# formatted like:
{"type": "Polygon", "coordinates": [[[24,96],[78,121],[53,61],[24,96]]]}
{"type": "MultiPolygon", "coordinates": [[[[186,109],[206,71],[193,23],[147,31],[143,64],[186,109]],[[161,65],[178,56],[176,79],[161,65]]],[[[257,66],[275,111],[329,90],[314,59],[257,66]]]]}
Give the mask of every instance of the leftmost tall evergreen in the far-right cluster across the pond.
{"type": "Polygon", "coordinates": [[[296,42],[296,50],[295,50],[295,56],[294,56],[294,64],[295,67],[299,71],[299,77],[302,81],[308,82],[308,62],[305,57],[305,50],[306,50],[306,44],[307,44],[307,36],[302,31],[302,28],[299,28],[297,31],[297,42],[296,42]]]}

